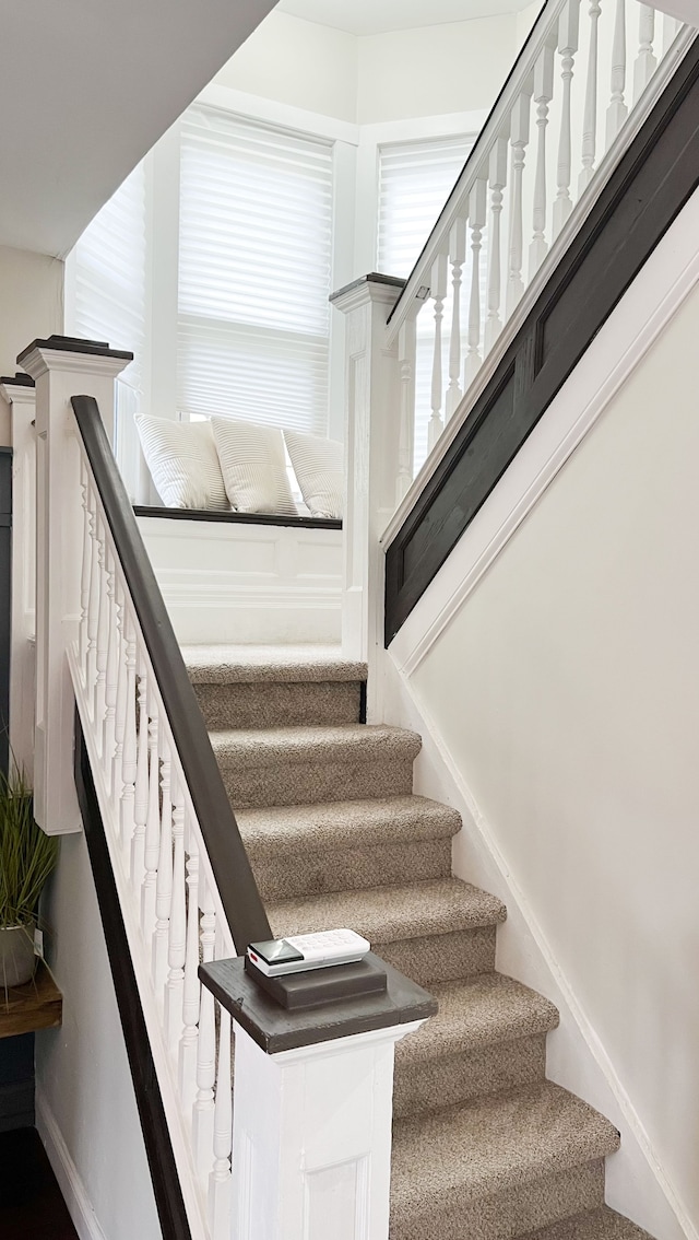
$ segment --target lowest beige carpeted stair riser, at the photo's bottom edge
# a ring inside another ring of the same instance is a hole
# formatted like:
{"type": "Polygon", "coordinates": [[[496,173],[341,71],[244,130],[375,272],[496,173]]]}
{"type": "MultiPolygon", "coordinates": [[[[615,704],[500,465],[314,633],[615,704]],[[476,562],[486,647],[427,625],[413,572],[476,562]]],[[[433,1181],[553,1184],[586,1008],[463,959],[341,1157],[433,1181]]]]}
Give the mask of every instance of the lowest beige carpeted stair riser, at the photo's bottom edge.
{"type": "Polygon", "coordinates": [[[605,1164],[595,1161],[571,1171],[504,1189],[485,1200],[425,1203],[424,1214],[392,1219],[389,1240],[516,1240],[582,1210],[604,1204],[605,1164]]]}

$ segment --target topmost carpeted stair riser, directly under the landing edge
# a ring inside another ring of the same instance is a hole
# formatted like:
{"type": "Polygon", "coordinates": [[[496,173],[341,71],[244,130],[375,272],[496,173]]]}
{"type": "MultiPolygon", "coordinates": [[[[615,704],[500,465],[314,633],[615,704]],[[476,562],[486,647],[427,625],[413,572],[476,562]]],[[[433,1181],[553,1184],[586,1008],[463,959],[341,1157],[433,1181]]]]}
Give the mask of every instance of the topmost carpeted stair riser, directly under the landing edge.
{"type": "Polygon", "coordinates": [[[359,723],[361,684],[275,683],[195,684],[207,728],[332,727],[359,723]]]}

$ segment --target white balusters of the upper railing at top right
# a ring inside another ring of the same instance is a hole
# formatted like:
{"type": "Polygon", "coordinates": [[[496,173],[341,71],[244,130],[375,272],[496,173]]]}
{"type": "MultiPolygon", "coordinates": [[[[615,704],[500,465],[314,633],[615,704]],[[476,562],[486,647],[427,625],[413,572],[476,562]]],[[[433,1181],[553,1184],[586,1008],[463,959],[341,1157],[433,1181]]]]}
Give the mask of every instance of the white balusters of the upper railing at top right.
{"type": "Polygon", "coordinates": [[[407,451],[426,425],[424,481],[692,37],[637,0],[549,0],[542,11],[389,319],[385,347],[398,342],[404,374],[399,505],[423,466],[407,451]],[[418,316],[433,340],[429,409],[415,407],[418,316]]]}

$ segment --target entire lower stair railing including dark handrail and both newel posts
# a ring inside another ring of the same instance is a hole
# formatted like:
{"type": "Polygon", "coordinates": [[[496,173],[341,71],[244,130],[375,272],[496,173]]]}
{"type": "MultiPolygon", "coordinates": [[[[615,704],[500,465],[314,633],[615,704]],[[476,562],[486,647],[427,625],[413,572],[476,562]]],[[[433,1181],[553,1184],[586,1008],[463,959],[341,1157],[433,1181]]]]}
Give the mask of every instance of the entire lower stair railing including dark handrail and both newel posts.
{"type": "Polygon", "coordinates": [[[312,1240],[337,1188],[366,1240],[388,1240],[394,1045],[436,1004],[384,966],[380,996],[286,1011],[233,959],[271,930],[109,441],[129,357],[64,337],[21,355],[38,429],[35,786],[46,830],[87,831],[162,1234],[312,1240]]]}

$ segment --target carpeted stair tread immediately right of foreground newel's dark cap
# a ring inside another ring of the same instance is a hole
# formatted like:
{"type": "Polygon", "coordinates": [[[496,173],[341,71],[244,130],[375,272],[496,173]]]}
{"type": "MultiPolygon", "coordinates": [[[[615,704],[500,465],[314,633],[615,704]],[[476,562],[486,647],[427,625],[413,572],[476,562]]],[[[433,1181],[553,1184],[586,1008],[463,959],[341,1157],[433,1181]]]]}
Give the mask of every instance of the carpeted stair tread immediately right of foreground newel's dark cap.
{"type": "Polygon", "coordinates": [[[559,1013],[549,999],[503,973],[430,986],[439,1012],[395,1048],[397,1069],[415,1069],[439,1055],[549,1033],[559,1013]]]}

